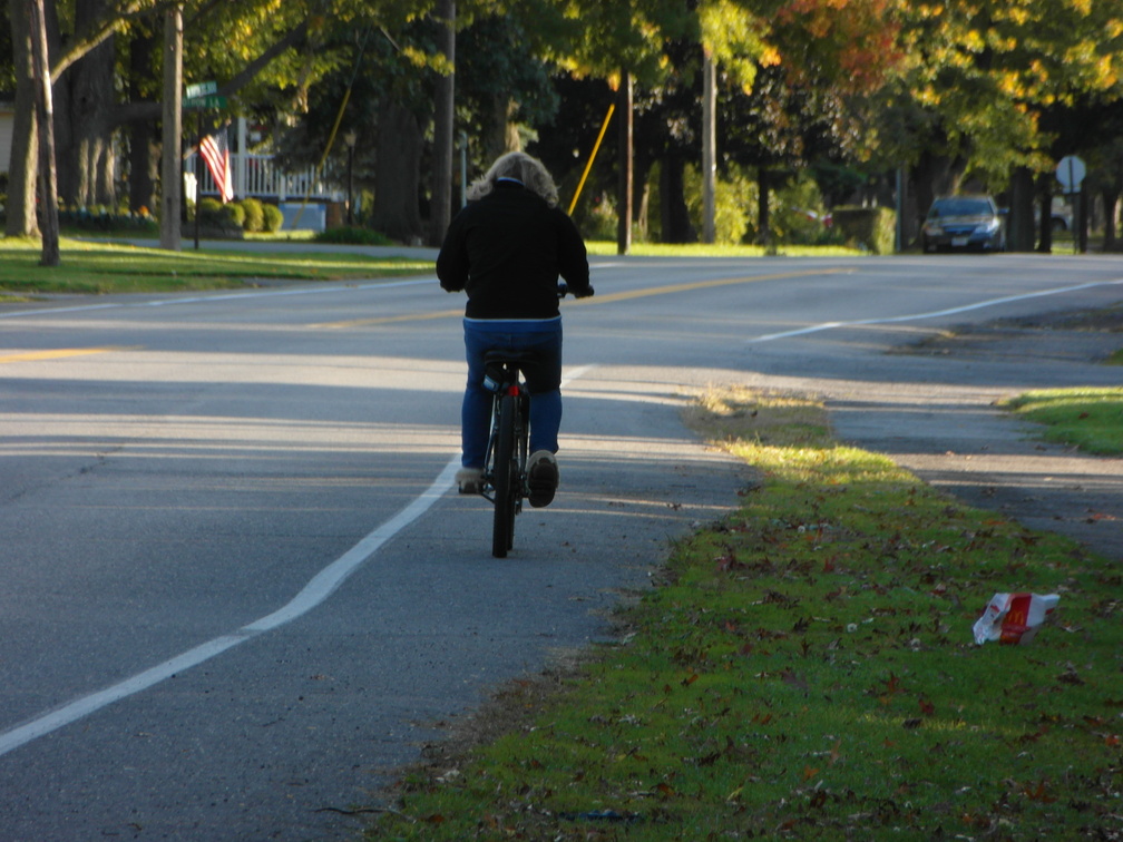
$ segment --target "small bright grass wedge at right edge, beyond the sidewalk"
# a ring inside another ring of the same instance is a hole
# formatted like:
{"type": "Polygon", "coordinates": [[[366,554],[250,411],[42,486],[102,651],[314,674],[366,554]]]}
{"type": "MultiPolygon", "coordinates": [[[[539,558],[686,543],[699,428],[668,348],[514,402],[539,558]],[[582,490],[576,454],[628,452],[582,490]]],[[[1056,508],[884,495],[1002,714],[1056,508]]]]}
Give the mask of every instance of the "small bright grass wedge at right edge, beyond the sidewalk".
{"type": "Polygon", "coordinates": [[[1003,405],[1043,424],[1042,437],[1049,441],[1089,454],[1123,454],[1123,387],[1042,390],[1003,405]]]}

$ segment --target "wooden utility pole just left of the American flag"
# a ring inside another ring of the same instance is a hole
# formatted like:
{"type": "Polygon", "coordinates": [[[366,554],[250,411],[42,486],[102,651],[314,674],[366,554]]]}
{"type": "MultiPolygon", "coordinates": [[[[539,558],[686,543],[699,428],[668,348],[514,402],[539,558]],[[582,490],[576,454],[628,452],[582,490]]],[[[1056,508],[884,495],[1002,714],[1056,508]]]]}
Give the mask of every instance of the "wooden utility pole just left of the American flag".
{"type": "Polygon", "coordinates": [[[183,200],[183,164],[180,161],[182,98],[183,7],[173,6],[164,15],[164,135],[159,171],[159,247],[172,251],[180,250],[180,207],[183,200]]]}

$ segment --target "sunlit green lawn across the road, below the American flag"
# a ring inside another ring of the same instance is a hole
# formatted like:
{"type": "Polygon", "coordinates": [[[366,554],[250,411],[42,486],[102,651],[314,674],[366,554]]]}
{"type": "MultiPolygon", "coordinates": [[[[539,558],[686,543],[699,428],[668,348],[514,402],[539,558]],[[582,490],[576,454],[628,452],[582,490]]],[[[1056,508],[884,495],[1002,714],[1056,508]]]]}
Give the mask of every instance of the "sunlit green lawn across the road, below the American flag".
{"type": "Polygon", "coordinates": [[[267,253],[120,246],[63,239],[62,262],[39,265],[38,240],[0,239],[0,298],[36,293],[182,292],[263,281],[346,281],[432,272],[431,260],[343,253],[267,253]]]}

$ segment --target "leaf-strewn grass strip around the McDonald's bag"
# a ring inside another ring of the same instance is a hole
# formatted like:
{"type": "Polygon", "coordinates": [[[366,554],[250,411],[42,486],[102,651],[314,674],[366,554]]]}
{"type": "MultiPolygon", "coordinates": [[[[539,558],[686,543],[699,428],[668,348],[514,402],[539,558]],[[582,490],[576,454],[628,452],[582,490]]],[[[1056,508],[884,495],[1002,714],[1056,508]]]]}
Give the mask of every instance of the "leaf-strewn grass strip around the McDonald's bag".
{"type": "Polygon", "coordinates": [[[1115,838],[1117,568],[838,446],[814,404],[723,394],[702,420],[759,484],[674,548],[618,644],[515,687],[515,726],[407,776],[369,836],[1115,838]],[[976,646],[1010,591],[1058,612],[976,646]]]}

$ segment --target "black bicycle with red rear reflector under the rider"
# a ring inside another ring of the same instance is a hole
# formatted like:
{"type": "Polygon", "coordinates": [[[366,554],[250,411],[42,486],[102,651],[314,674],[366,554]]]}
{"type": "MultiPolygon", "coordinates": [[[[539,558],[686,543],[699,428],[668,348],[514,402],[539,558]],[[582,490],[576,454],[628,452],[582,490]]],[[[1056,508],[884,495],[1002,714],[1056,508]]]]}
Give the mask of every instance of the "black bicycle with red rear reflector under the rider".
{"type": "MultiPolygon", "coordinates": [[[[568,292],[564,282],[558,283],[559,299],[568,292]]],[[[514,547],[514,519],[530,493],[527,475],[530,393],[521,366],[531,358],[526,353],[499,350],[484,356],[484,387],[494,399],[481,494],[494,506],[492,556],[495,558],[505,558],[514,547]]]]}

